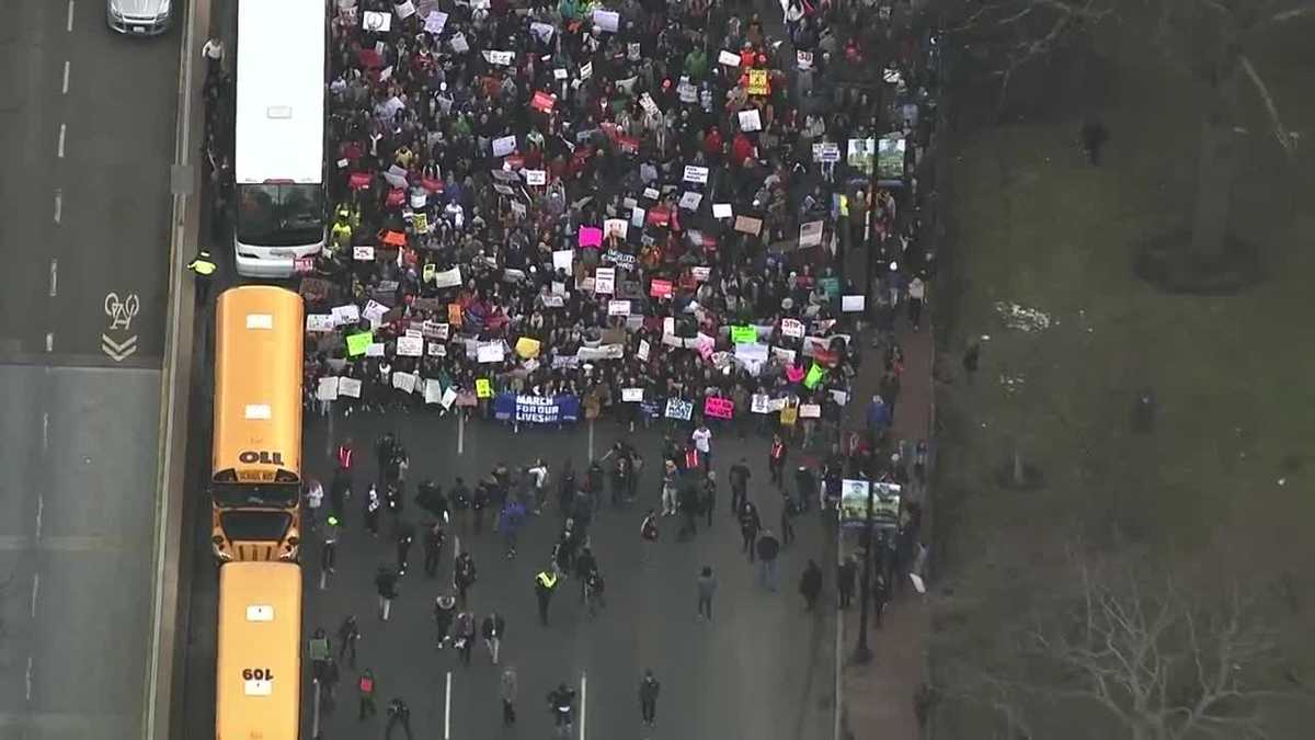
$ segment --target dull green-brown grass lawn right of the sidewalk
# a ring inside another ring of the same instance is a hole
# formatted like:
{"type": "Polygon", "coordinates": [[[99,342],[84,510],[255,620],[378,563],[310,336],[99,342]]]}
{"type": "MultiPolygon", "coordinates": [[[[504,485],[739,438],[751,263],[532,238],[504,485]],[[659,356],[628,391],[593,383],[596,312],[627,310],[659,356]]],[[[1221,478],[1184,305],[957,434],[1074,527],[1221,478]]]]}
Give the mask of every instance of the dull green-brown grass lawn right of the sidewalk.
{"type": "MultiPolygon", "coordinates": [[[[1166,295],[1131,269],[1141,240],[1190,216],[1202,108],[1187,79],[1152,61],[1109,63],[1099,115],[1111,138],[1099,167],[1078,149],[1080,115],[963,128],[949,142],[943,249],[959,292],[953,316],[938,316],[948,328],[938,536],[951,600],[970,604],[943,611],[957,611],[942,625],[953,649],[990,649],[999,620],[1038,600],[1048,573],[1039,566],[1078,539],[1109,545],[1114,531],[1166,560],[1304,571],[1304,619],[1315,624],[1308,49],[1308,36],[1285,30],[1257,59],[1287,128],[1307,132],[1294,162],[1268,134],[1258,100],[1244,97],[1252,133],[1233,224],[1268,274],[1236,296],[1166,295]],[[1010,328],[999,311],[1010,304],[1049,325],[1010,328]],[[960,356],[980,334],[990,341],[969,386],[960,356]],[[1157,415],[1152,432],[1134,433],[1143,390],[1157,415]],[[1007,485],[1014,449],[1039,473],[1027,490],[1007,485]]],[[[1315,639],[1301,653],[1315,678],[1315,639]]],[[[965,729],[947,722],[938,736],[965,729]]]]}

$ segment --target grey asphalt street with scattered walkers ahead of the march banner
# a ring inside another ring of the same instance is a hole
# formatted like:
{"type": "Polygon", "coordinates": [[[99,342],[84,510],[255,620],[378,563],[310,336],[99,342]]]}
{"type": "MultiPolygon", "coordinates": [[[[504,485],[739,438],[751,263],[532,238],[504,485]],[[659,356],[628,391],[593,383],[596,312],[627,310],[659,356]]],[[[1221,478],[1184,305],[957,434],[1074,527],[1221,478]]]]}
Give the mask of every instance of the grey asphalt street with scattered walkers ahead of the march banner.
{"type": "MultiPolygon", "coordinates": [[[[360,448],[364,470],[358,473],[359,479],[372,474],[372,444],[385,429],[394,431],[406,444],[413,485],[433,477],[446,489],[456,475],[472,481],[498,461],[526,465],[542,456],[554,474],[567,458],[577,469],[588,461],[586,425],[577,431],[522,428],[514,435],[506,425],[479,420],[459,431],[454,420],[427,413],[335,419],[331,437],[350,436],[360,448]]],[[[623,433],[614,423],[600,423],[594,449],[601,454],[623,433]]],[[[631,438],[646,461],[659,460],[656,428],[631,438]]],[[[327,420],[312,419],[305,441],[312,474],[329,473],[331,441],[327,420]]],[[[419,737],[444,736],[448,672],[451,737],[550,736],[546,694],[560,681],[585,697],[588,737],[830,737],[835,612],[830,608],[805,612],[797,585],[811,557],[823,565],[831,591],[834,569],[827,565],[835,562],[834,545],[828,544],[831,535],[817,514],[806,515],[797,521],[798,540],[781,558],[780,591],[755,585],[752,566],[739,552],[740,537],[730,515],[725,479],[730,465],[740,454],[747,456],[753,473],[751,495],[763,511],[764,524],[778,531],[780,495],[767,485],[767,441],[752,437],[742,441],[719,433],[713,453],[722,481],[718,510],[713,528],[706,529],[701,520],[692,542],[677,542],[676,520],[664,520],[652,561],[648,565],[640,561],[639,523],[646,507],[658,503],[659,478],[651,469],[640,482],[640,502],[622,511],[609,506],[600,514],[592,528],[592,544],[609,595],[606,610],[592,620],[579,604],[579,585],[568,581],[554,599],[551,625],[542,628],[537,623],[531,582],[546,564],[560,528],[555,507],[527,524],[515,560],[504,557],[496,533],[460,536],[462,549],[473,553],[479,568],[471,596],[473,611],[483,618],[496,608],[508,620],[502,664],[515,666],[521,686],[522,722],[513,731],[501,729],[500,669],[489,664],[487,653],[476,652],[473,665],[467,669],[450,650],[438,652],[433,647],[431,608],[434,598],[450,590],[455,552],[451,546],[444,553],[441,578],[427,581],[419,569],[422,548],[414,545],[413,570],[402,579],[392,619],[379,621],[372,578],[379,565],[394,565],[396,548],[387,537],[373,540],[364,531],[359,491],[347,504],[341,564],[326,590],[318,589],[316,552],[304,557],[306,635],[320,625],[333,632],[346,615],[358,615],[364,632],[358,665],[375,670],[381,706],[394,695],[410,703],[413,729],[419,737]],[[713,624],[698,623],[694,614],[694,577],[704,565],[713,566],[719,581],[713,624]],[[636,694],[644,669],[652,669],[663,682],[658,728],[647,732],[639,722],[636,694]]],[[[404,516],[422,521],[414,504],[408,504],[404,516]]],[[[325,716],[323,737],[371,736],[362,735],[358,726],[354,681],[355,674],[345,666],[341,707],[325,716]]],[[[309,691],[308,686],[306,732],[313,706],[309,691]]],[[[375,720],[372,726],[377,732],[383,723],[375,720]]]]}

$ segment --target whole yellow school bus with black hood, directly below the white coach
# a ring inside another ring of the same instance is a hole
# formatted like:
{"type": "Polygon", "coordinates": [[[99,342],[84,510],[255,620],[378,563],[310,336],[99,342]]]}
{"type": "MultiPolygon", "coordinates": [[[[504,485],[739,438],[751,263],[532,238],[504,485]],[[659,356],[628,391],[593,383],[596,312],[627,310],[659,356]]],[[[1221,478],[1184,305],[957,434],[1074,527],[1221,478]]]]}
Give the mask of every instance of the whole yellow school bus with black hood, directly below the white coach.
{"type": "Polygon", "coordinates": [[[284,288],[237,287],[220,295],[214,325],[214,556],[296,560],[305,305],[284,288]]]}

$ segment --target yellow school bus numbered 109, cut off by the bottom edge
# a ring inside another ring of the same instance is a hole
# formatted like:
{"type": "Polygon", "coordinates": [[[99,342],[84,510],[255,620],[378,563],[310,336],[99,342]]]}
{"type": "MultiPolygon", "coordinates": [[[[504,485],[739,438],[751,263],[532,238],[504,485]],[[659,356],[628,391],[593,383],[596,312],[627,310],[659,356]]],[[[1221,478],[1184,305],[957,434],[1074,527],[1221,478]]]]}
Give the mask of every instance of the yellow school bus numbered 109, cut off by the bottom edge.
{"type": "Polygon", "coordinates": [[[216,740],[296,740],[301,720],[301,566],[220,566],[216,740]]]}

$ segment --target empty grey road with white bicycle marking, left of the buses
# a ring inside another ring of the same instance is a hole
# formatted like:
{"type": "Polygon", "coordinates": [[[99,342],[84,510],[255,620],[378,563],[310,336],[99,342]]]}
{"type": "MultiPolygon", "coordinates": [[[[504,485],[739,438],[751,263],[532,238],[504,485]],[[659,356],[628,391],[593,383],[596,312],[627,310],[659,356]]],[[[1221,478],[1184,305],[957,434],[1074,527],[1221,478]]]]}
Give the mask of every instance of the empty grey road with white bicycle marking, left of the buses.
{"type": "Polygon", "coordinates": [[[7,9],[0,735],[135,739],[180,37],[122,38],[91,0],[7,9]]]}

